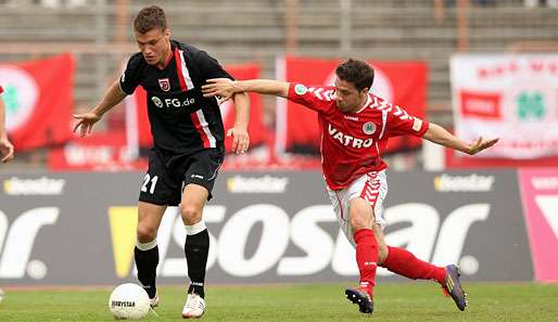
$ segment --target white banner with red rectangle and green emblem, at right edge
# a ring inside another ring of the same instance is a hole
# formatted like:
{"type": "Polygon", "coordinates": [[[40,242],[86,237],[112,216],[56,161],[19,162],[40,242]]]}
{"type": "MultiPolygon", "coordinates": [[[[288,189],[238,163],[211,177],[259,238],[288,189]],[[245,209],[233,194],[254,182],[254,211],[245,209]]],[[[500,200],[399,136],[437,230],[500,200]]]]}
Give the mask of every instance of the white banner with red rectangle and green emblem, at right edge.
{"type": "Polygon", "coordinates": [[[558,155],[558,54],[456,54],[451,60],[456,134],[500,138],[480,157],[558,155]]]}

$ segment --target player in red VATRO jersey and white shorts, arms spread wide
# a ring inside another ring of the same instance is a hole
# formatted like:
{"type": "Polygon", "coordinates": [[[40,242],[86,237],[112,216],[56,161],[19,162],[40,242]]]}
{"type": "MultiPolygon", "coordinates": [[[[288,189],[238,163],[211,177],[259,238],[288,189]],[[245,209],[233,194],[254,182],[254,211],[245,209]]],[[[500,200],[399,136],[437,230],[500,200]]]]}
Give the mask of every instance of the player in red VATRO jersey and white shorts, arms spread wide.
{"type": "Polygon", "coordinates": [[[409,279],[434,280],[452,296],[459,310],[467,295],[455,265],[433,266],[404,248],[385,244],[381,214],[388,184],[386,165],[381,152],[390,137],[416,136],[473,155],[494,145],[498,139],[479,138],[464,142],[444,128],[409,115],[402,107],[369,93],[373,69],[365,62],[348,60],[337,69],[333,87],[308,87],[277,80],[231,81],[210,79],[204,95],[224,100],[234,93],[257,92],[286,98],[318,113],[321,129],[321,158],[329,197],[341,229],[356,248],[360,272],[357,287],[345,295],[360,312],[373,311],[377,266],[409,279]]]}

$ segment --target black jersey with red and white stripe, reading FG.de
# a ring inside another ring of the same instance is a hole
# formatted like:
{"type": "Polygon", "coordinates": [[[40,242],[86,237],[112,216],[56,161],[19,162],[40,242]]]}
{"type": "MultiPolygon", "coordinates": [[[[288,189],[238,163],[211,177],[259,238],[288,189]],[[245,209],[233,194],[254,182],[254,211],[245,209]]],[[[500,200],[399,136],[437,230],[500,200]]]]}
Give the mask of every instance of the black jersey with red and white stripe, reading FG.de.
{"type": "Polygon", "coordinates": [[[121,88],[131,94],[138,86],[147,91],[148,115],[154,146],[170,154],[190,154],[224,147],[225,130],[215,98],[204,98],[210,78],[233,79],[205,51],[175,40],[173,55],[160,69],[141,52],[134,54],[121,77],[121,88]]]}

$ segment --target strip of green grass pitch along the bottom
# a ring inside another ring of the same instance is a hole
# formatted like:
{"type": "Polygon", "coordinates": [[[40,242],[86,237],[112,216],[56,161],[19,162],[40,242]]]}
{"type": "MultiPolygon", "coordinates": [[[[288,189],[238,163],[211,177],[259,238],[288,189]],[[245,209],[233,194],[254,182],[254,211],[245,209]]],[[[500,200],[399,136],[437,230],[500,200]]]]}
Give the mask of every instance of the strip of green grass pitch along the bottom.
{"type": "MultiPolygon", "coordinates": [[[[211,286],[205,321],[558,321],[558,284],[466,283],[469,307],[460,312],[433,283],[376,287],[375,313],[344,298],[345,284],[211,286]]],[[[4,289],[0,321],[115,321],[111,289],[4,289]]],[[[144,321],[180,321],[182,287],[160,287],[161,305],[144,321]]]]}

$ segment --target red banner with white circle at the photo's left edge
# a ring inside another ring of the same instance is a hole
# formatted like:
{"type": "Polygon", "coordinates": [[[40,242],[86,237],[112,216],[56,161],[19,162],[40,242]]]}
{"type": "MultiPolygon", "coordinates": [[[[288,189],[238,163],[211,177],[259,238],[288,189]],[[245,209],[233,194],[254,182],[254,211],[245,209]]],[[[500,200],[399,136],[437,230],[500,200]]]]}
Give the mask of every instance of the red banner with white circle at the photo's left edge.
{"type": "Polygon", "coordinates": [[[74,66],[71,54],[0,65],[7,129],[16,150],[52,146],[69,140],[74,66]]]}

